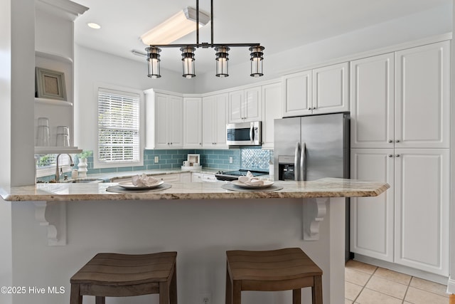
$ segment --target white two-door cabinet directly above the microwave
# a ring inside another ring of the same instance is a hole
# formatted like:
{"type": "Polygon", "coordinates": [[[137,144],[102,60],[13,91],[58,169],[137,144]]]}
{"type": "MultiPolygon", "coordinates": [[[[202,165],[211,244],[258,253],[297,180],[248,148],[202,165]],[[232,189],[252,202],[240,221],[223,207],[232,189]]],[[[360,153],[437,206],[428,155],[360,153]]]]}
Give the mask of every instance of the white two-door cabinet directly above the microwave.
{"type": "Polygon", "coordinates": [[[251,122],[262,119],[261,87],[229,93],[228,122],[251,122]]]}

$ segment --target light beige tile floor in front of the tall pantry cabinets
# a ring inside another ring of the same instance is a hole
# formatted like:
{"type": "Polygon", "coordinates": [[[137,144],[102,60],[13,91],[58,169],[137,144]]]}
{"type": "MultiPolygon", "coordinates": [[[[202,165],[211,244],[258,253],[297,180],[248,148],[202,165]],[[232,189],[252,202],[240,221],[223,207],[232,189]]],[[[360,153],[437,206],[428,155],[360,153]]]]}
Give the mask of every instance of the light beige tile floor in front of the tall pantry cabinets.
{"type": "Polygon", "coordinates": [[[358,261],[345,267],[345,304],[447,304],[446,288],[358,261]]]}

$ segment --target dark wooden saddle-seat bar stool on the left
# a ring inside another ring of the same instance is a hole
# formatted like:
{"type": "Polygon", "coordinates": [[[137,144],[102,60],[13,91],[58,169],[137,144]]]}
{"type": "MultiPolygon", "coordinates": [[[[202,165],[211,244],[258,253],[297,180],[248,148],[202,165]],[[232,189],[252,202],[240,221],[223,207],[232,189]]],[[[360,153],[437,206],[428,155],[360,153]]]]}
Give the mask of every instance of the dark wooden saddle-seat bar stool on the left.
{"type": "Polygon", "coordinates": [[[70,304],[83,295],[130,297],[159,293],[159,304],[177,304],[176,252],[151,254],[98,253],[70,279],[70,304]]]}

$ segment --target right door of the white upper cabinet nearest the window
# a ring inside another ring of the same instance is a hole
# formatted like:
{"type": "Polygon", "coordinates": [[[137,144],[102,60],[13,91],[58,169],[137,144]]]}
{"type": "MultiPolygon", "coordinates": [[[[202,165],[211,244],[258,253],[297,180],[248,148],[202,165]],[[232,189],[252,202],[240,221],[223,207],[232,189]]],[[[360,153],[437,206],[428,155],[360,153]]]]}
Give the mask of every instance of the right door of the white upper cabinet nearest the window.
{"type": "Polygon", "coordinates": [[[183,147],[183,98],[168,98],[168,147],[183,147]]]}

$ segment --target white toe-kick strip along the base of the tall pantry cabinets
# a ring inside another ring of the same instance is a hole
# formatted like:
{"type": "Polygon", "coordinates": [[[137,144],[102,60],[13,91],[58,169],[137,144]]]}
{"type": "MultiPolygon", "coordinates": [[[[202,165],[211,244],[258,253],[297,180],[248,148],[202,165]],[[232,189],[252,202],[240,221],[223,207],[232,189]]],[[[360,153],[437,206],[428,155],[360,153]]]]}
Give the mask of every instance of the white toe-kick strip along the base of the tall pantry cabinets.
{"type": "MultiPolygon", "coordinates": [[[[373,266],[378,266],[386,269],[390,269],[391,271],[397,271],[399,273],[405,273],[409,276],[415,276],[417,278],[423,278],[424,280],[436,282],[439,284],[447,285],[447,289],[449,290],[449,278],[445,276],[439,276],[434,273],[428,273],[427,271],[420,271],[418,269],[410,268],[407,266],[398,265],[395,263],[390,263],[386,261],[378,260],[377,258],[370,258],[369,256],[362,256],[361,254],[355,253],[354,258],[355,261],[367,263],[373,266]]],[[[452,281],[451,285],[451,293],[455,293],[455,281],[452,281]]],[[[454,303],[455,304],[455,303],[454,303]]]]}

